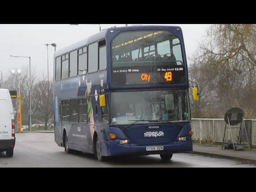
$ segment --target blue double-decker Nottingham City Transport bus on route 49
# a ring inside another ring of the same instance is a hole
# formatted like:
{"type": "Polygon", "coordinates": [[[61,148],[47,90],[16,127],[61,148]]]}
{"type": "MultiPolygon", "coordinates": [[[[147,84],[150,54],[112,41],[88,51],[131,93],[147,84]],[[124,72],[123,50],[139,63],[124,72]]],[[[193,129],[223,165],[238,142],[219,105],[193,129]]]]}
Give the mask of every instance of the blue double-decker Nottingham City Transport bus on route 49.
{"type": "Polygon", "coordinates": [[[103,30],[54,54],[55,142],[99,161],[191,152],[188,88],[180,27],[103,30]]]}

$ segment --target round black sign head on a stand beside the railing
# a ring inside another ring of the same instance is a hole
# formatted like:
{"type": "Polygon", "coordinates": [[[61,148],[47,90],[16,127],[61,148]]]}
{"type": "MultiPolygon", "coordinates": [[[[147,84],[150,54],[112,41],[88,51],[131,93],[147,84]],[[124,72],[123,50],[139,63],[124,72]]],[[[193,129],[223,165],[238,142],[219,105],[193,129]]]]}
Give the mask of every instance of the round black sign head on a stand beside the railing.
{"type": "Polygon", "coordinates": [[[243,120],[243,117],[244,117],[243,110],[240,108],[234,107],[225,113],[224,120],[226,124],[228,124],[228,120],[229,120],[230,125],[237,125],[243,120]]]}

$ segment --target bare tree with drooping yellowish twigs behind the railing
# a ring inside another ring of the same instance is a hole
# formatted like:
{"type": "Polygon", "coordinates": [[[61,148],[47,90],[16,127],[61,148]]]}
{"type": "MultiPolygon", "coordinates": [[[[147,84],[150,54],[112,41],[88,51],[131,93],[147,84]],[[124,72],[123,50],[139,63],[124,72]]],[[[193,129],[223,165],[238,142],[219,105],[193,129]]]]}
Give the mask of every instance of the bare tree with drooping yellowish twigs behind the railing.
{"type": "Polygon", "coordinates": [[[255,105],[247,102],[253,100],[256,84],[255,35],[256,25],[250,24],[214,24],[209,28],[189,70],[201,96],[200,102],[192,104],[194,114],[223,117],[234,106],[248,111],[248,116],[255,114],[255,105]]]}

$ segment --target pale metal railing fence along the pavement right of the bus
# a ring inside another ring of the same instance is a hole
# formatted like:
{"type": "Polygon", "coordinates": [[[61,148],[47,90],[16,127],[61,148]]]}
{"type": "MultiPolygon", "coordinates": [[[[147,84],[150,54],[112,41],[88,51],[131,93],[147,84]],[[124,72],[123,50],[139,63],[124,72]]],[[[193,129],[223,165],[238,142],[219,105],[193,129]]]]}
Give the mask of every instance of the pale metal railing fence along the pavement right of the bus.
{"type": "MultiPolygon", "coordinates": [[[[192,118],[193,139],[199,141],[222,142],[226,122],[224,119],[192,118]]],[[[236,125],[240,126],[240,124],[236,125]]],[[[231,126],[231,127],[236,127],[231,126]]],[[[232,138],[238,142],[239,128],[232,129],[232,138]]],[[[226,129],[224,142],[231,139],[230,131],[226,129]]],[[[252,145],[256,145],[256,119],[252,119],[252,145]]]]}

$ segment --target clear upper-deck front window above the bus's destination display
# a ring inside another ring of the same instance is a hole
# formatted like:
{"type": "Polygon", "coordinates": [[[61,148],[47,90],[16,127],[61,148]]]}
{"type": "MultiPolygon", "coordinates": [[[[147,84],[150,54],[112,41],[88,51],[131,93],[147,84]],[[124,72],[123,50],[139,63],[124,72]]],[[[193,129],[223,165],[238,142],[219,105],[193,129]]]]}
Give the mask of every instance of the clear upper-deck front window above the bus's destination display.
{"type": "Polygon", "coordinates": [[[112,41],[112,67],[182,64],[180,41],[169,31],[122,32],[112,41]]]}

